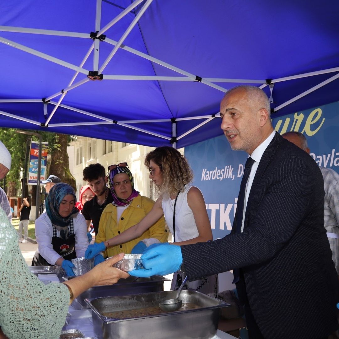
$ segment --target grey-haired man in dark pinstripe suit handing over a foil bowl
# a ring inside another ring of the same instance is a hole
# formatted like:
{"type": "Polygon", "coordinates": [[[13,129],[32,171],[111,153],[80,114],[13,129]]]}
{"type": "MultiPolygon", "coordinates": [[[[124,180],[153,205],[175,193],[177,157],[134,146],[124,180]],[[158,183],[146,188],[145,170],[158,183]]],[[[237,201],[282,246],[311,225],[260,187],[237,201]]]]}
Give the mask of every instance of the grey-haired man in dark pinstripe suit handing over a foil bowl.
{"type": "Polygon", "coordinates": [[[211,243],[149,248],[145,270],[131,273],[168,274],[184,266],[193,279],[233,269],[251,339],[327,338],[338,328],[339,282],[323,227],[320,169],[274,131],[261,89],[231,89],[220,116],[231,148],[253,159],[252,167],[246,162],[248,180],[244,174],[231,234],[211,243]]]}

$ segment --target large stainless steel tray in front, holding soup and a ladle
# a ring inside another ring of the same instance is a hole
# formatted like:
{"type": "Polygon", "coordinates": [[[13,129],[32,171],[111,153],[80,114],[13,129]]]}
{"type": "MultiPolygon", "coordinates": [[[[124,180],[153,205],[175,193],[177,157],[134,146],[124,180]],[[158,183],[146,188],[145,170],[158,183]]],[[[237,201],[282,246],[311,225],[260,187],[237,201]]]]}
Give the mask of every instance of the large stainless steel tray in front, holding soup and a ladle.
{"type": "Polygon", "coordinates": [[[220,307],[230,304],[197,291],[184,290],[180,294],[183,302],[201,306],[194,310],[128,319],[112,319],[102,315],[105,312],[155,306],[160,300],[174,299],[176,295],[177,291],[165,291],[85,301],[92,309],[94,333],[98,339],[212,338],[218,330],[220,307]]]}

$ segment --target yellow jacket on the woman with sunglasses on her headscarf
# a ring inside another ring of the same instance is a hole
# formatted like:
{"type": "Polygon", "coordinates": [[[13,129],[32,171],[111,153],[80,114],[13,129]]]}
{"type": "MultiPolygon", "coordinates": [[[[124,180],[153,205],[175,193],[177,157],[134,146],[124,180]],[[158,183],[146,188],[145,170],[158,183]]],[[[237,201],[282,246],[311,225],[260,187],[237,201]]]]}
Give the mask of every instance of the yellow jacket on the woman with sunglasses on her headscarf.
{"type": "MultiPolygon", "coordinates": [[[[135,197],[131,204],[121,214],[117,224],[117,207],[109,204],[102,211],[99,231],[95,237],[95,242],[106,241],[111,239],[127,228],[137,224],[149,211],[152,210],[154,201],[143,197],[140,194],[135,197]]],[[[162,216],[155,224],[148,228],[141,237],[129,242],[107,248],[104,257],[112,257],[119,253],[131,253],[132,248],[141,240],[147,238],[156,238],[160,242],[167,241],[168,233],[165,230],[165,218],[162,216]]]]}

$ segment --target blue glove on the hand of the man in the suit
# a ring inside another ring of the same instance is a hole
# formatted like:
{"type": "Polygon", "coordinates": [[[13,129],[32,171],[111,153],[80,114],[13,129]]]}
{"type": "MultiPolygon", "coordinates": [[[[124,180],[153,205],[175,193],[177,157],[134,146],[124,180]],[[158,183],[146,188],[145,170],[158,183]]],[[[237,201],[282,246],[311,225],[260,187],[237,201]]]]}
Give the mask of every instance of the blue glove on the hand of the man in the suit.
{"type": "Polygon", "coordinates": [[[146,248],[141,256],[145,269],[128,272],[135,277],[151,277],[153,275],[166,275],[176,272],[182,264],[180,246],[159,244],[153,248],[146,248]]]}

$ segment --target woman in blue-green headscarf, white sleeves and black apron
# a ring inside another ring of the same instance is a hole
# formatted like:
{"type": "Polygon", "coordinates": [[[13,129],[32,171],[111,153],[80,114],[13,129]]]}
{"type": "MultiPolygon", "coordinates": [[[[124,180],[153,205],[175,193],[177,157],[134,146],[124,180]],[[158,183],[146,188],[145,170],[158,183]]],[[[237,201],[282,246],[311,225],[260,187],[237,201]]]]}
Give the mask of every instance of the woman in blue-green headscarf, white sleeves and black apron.
{"type": "Polygon", "coordinates": [[[88,246],[86,220],[75,207],[72,186],[60,182],[49,191],[46,213],[35,222],[38,250],[32,265],[62,266],[74,276],[72,259],[83,257],[88,246]]]}

